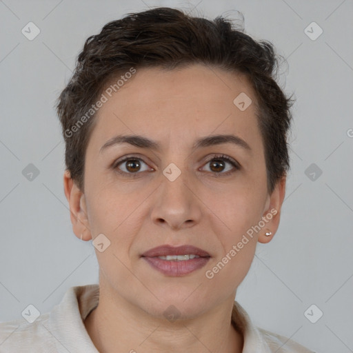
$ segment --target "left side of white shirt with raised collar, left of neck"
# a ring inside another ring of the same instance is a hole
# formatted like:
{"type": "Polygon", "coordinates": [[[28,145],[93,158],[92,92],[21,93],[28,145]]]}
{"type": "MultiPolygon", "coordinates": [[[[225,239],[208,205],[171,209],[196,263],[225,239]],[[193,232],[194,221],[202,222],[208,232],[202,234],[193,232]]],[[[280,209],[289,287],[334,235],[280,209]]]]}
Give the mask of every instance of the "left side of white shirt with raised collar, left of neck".
{"type": "Polygon", "coordinates": [[[0,323],[0,353],[97,353],[83,320],[99,301],[99,285],[68,288],[63,299],[32,323],[23,318],[0,323]]]}

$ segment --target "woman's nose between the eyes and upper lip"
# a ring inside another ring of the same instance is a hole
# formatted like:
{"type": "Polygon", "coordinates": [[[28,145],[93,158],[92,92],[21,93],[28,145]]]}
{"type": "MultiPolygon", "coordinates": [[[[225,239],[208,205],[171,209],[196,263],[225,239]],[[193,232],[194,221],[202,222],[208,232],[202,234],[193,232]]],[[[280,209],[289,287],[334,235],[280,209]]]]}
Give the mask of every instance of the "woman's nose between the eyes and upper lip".
{"type": "Polygon", "coordinates": [[[199,223],[201,201],[192,179],[183,171],[175,180],[165,175],[161,175],[161,185],[154,194],[153,222],[172,230],[190,228],[199,223]]]}

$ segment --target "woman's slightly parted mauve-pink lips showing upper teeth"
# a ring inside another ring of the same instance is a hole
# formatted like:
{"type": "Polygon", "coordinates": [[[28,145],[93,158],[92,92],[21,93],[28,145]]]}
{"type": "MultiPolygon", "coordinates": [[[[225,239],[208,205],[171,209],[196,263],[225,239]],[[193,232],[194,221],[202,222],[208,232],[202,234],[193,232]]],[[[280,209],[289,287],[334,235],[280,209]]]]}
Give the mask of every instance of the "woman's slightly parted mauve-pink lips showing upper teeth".
{"type": "Polygon", "coordinates": [[[172,247],[162,245],[141,255],[154,270],[166,276],[185,276],[203,268],[211,256],[205,250],[192,245],[172,247]]]}

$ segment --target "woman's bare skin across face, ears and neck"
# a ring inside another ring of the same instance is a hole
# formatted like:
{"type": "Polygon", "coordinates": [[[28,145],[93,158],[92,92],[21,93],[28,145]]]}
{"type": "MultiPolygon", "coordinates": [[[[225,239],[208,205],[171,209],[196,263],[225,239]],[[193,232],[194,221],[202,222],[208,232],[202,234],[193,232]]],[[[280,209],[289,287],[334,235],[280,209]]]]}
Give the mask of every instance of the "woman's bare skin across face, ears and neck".
{"type": "Polygon", "coordinates": [[[254,102],[241,74],[194,64],[138,69],[100,108],[85,155],[84,192],[68,171],[63,177],[74,234],[90,241],[103,233],[111,242],[105,251],[95,250],[100,300],[85,320],[99,352],[242,352],[243,336],[230,323],[236,289],[250,269],[256,243],[274,236],[285,196],[285,177],[268,194],[254,102]],[[243,112],[233,103],[241,92],[252,99],[243,112]],[[143,135],[161,150],[125,143],[100,153],[117,134],[143,135]],[[232,143],[192,149],[196,139],[211,134],[235,134],[252,151],[232,143]],[[119,168],[139,173],[136,178],[110,168],[128,154],[141,158],[140,165],[129,168],[124,162],[119,168]],[[216,154],[235,159],[241,168],[228,161],[223,168],[214,166],[216,154]],[[181,170],[175,181],[163,174],[170,163],[181,170]],[[277,214],[265,228],[206,278],[205,271],[272,209],[277,214]],[[265,236],[266,230],[272,236],[265,236]],[[211,258],[185,276],[165,276],[140,257],[164,244],[191,244],[211,258]],[[163,315],[170,305],[180,312],[177,321],[163,315]]]}

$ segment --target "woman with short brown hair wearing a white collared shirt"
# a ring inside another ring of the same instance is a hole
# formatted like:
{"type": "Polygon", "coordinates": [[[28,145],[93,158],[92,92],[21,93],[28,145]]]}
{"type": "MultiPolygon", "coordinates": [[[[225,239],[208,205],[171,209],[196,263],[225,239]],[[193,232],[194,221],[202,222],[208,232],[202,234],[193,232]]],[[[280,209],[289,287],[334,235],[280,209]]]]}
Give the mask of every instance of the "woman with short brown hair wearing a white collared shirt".
{"type": "Polygon", "coordinates": [[[1,324],[1,352],[311,352],[234,301],[285,196],[292,101],[275,67],[270,43],[172,8],[87,39],[57,111],[99,285],[1,324]]]}

